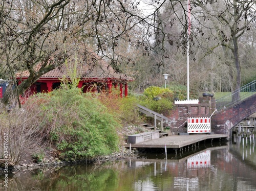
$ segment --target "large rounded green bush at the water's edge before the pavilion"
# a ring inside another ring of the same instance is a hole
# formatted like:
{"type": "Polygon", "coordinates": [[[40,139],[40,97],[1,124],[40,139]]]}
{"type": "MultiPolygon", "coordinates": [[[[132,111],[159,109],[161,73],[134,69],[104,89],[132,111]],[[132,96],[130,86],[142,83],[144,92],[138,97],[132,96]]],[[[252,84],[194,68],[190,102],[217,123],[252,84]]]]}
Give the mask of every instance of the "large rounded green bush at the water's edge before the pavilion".
{"type": "Polygon", "coordinates": [[[90,93],[71,87],[46,94],[48,101],[40,97],[48,138],[62,157],[95,157],[117,151],[120,124],[90,93]]]}

